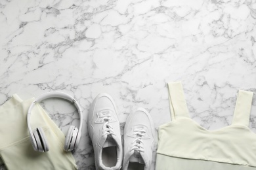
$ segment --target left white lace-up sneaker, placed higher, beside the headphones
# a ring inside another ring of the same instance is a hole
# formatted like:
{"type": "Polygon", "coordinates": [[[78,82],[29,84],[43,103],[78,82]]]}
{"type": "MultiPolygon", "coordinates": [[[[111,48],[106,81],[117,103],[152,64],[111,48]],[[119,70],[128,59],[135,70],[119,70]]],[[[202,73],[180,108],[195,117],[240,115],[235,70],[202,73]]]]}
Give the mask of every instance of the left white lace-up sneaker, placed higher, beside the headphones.
{"type": "Polygon", "coordinates": [[[106,93],[94,99],[88,115],[88,131],[95,151],[97,170],[121,168],[123,148],[114,100],[106,93]]]}

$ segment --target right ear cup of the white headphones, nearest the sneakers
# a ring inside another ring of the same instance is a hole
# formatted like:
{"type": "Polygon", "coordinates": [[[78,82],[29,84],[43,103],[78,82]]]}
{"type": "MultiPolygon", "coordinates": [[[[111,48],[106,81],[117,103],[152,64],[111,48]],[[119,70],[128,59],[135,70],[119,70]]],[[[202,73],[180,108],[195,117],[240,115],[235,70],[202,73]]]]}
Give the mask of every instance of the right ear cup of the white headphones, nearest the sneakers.
{"type": "Polygon", "coordinates": [[[70,128],[68,129],[68,133],[66,135],[66,139],[65,139],[65,145],[64,145],[65,151],[74,150],[77,133],[78,133],[77,127],[70,126],[70,128]]]}

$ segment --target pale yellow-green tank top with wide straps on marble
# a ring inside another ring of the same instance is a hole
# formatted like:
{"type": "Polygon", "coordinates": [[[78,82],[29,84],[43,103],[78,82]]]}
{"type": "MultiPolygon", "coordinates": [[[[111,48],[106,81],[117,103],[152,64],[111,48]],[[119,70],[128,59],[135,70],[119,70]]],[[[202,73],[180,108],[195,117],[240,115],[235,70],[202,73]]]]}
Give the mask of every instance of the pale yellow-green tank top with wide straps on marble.
{"type": "Polygon", "coordinates": [[[239,90],[230,126],[209,131],[188,115],[181,82],[168,83],[171,122],[158,130],[156,169],[256,169],[256,134],[249,125],[252,92],[239,90]]]}

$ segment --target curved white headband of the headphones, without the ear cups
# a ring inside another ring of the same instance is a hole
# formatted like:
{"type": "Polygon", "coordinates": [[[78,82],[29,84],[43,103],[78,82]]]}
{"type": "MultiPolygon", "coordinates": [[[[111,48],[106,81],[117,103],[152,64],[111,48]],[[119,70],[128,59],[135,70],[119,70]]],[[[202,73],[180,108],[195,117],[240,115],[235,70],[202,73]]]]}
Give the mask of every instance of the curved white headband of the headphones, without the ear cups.
{"type": "MultiPolygon", "coordinates": [[[[47,93],[43,93],[42,95],[39,95],[39,97],[37,97],[33,103],[30,105],[30,108],[28,109],[28,115],[27,115],[27,122],[28,122],[28,130],[30,132],[30,140],[33,143],[36,143],[34,137],[33,137],[33,131],[32,128],[30,126],[30,114],[32,112],[33,106],[35,105],[35,103],[39,103],[40,101],[43,101],[45,99],[50,99],[53,97],[57,97],[57,98],[61,98],[61,99],[66,99],[72,103],[74,103],[75,107],[77,108],[77,111],[79,113],[79,117],[80,117],[80,121],[79,121],[79,128],[78,128],[78,133],[77,133],[77,138],[78,138],[78,142],[79,139],[81,137],[81,129],[82,129],[82,124],[83,124],[83,114],[81,113],[81,107],[78,104],[78,102],[74,99],[74,97],[72,97],[71,95],[68,95],[67,93],[63,93],[63,92],[47,92],[47,93]]],[[[32,144],[33,148],[35,150],[37,150],[35,148],[35,144],[32,144]]]]}

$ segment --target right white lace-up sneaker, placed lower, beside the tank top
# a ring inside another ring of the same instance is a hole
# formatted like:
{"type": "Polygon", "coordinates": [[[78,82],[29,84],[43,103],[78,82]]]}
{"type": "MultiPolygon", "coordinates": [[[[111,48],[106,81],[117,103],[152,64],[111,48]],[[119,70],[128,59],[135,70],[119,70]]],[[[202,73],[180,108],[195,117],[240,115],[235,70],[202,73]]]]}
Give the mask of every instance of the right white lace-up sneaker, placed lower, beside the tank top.
{"type": "Polygon", "coordinates": [[[150,169],[154,149],[154,123],[145,109],[129,114],[123,134],[123,170],[150,169]]]}

